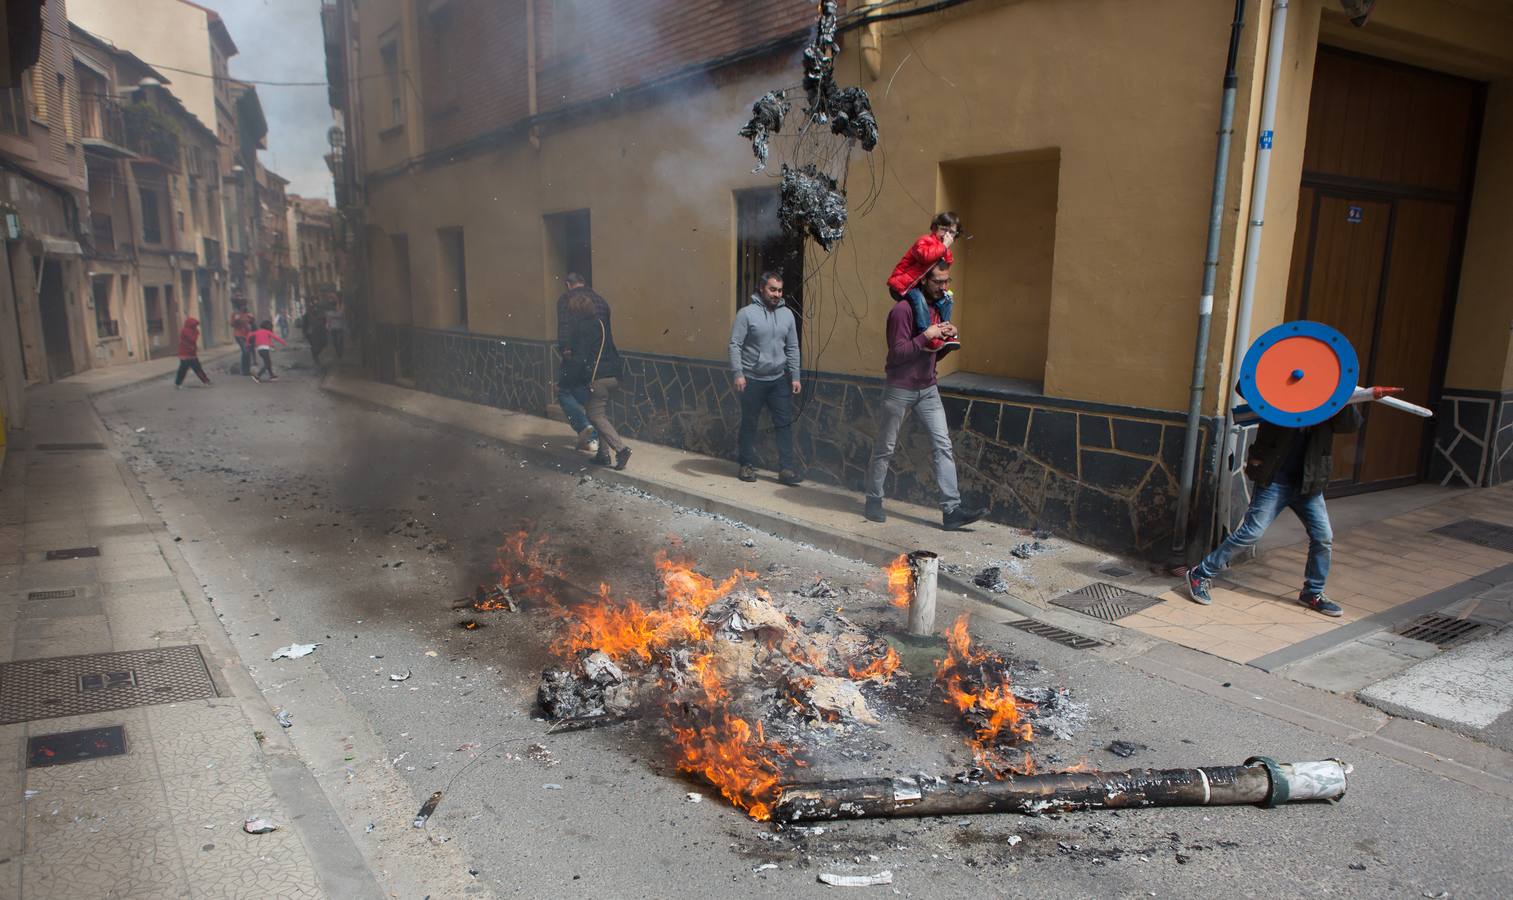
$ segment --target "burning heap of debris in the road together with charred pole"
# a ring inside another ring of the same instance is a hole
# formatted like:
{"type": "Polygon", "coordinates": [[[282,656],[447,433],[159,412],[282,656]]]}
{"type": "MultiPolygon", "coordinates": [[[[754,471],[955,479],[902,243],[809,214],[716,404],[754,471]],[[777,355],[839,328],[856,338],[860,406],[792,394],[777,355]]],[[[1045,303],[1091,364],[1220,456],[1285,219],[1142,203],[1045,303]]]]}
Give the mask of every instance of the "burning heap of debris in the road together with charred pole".
{"type": "MultiPolygon", "coordinates": [[[[893,607],[917,607],[920,557],[882,573],[893,607]]],[[[808,620],[781,605],[755,572],[705,575],[666,554],[655,558],[655,597],[617,596],[567,581],[543,538],[510,535],[498,582],[471,607],[540,611],[554,623],[537,702],[552,731],[637,722],[666,743],[675,768],[701,779],[758,821],[808,821],[946,812],[1275,803],[1344,794],[1337,761],[1241,767],[1038,773],[1033,741],[1065,740],[1086,708],[1062,688],[1024,688],[1021,661],[973,643],[967,616],[944,632],[934,673],[911,673],[894,644],[835,607],[808,620]],[[884,691],[912,684],[959,723],[971,765],[949,781],[806,782],[811,753],[837,734],[885,726],[884,691]],[[1079,714],[1080,712],[1080,714],[1079,714]],[[1280,800],[1278,800],[1280,799],[1280,800]]],[[[934,585],[930,584],[934,607],[934,585]]],[[[835,596],[825,582],[793,591],[835,596]]],[[[911,608],[911,622],[915,619],[911,608]]],[[[934,613],[930,613],[934,616],[934,613]]]]}

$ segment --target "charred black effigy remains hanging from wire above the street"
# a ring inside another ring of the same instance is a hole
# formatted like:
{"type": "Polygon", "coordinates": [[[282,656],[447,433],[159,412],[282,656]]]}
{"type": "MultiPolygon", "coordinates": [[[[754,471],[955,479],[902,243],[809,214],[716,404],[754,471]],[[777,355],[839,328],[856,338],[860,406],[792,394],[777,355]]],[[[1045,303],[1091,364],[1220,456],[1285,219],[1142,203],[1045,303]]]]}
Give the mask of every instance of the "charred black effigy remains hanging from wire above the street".
{"type": "MultiPolygon", "coordinates": [[[[782,204],[779,222],[790,236],[809,236],[826,251],[832,250],[846,234],[846,189],[826,169],[840,159],[840,178],[844,180],[846,154],[823,141],[806,136],[811,126],[829,126],[832,135],[871,151],[878,145],[878,119],[871,112],[871,100],[862,88],[841,88],[835,83],[837,2],[822,0],[814,39],[803,50],[803,92],[808,106],[799,127],[797,150],[782,165],[782,204]]],[[[770,139],[782,132],[791,103],[785,91],[769,91],[752,104],[752,118],[741,127],[741,136],[750,139],[752,154],[760,172],[767,168],[770,139]]],[[[819,132],[816,132],[819,133],[819,132]]]]}

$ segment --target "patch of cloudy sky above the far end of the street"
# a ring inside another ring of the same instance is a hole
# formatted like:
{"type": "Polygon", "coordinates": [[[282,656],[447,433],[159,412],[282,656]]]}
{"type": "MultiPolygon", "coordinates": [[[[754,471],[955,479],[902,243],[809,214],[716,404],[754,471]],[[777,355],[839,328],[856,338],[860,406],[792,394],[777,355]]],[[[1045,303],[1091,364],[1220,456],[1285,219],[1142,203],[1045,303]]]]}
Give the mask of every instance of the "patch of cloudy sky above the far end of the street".
{"type": "Polygon", "coordinates": [[[321,82],[319,88],[257,85],[268,116],[263,165],[289,178],[289,192],[331,198],[325,132],[334,124],[325,95],[319,0],[198,0],[221,14],[241,50],[231,76],[265,82],[321,82]]]}

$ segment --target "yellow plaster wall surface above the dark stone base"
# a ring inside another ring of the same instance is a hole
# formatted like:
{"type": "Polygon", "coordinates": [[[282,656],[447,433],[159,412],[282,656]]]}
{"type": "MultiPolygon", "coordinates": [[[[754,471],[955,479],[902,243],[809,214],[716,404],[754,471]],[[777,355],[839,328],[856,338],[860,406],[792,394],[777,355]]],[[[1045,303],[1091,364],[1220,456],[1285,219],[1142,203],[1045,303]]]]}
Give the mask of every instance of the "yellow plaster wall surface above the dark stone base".
{"type": "MultiPolygon", "coordinates": [[[[381,70],[377,35],[398,21],[401,6],[387,0],[365,9],[363,71],[381,70]]],[[[1448,3],[1400,6],[1381,29],[1389,36],[1431,27],[1413,15],[1448,3]]],[[[976,237],[964,245],[956,272],[968,345],[958,365],[1044,378],[1045,392],[1061,398],[1185,408],[1230,12],[1209,0],[1148,5],[1141,15],[1115,0],[974,3],[890,23],[878,80],[862,73],[856,42],[847,39],[838,79],[871,92],[882,144],[870,157],[859,150],[852,156],[847,241],[829,257],[814,245],[806,250],[805,365],[881,375],[884,280],[930,216],[955,206],[982,210],[968,216],[976,237]],[[988,171],[980,163],[1049,151],[1059,160],[1055,168],[993,169],[979,183],[988,171]],[[1002,200],[988,200],[994,194],[1002,200]],[[1055,242],[1047,247],[1041,225],[1052,218],[1055,242]],[[1020,299],[1036,295],[1047,298],[1044,306],[1020,299]]],[[[1209,414],[1223,408],[1232,363],[1227,343],[1259,127],[1257,61],[1265,59],[1269,14],[1269,5],[1253,5],[1242,42],[1203,405],[1209,414]]],[[[1459,12],[1428,18],[1439,24],[1425,42],[1462,41],[1474,54],[1492,53],[1459,12]]],[[[1328,38],[1336,26],[1322,0],[1292,2],[1253,334],[1283,316],[1313,57],[1321,29],[1328,38]]],[[[399,44],[409,51],[402,36],[399,44]]],[[[1513,41],[1504,51],[1513,53],[1513,41]]],[[[555,296],[542,287],[549,268],[542,215],[586,207],[595,286],[616,307],[620,346],[719,360],[735,309],[732,191],[776,183],[772,172],[747,174],[749,147],[732,135],[750,101],[796,71],[794,59],[773,61],[766,71],[723,77],[717,88],[672,103],[546,129],[539,151],[514,139],[451,165],[372,180],[368,221],[383,233],[371,244],[377,283],[398,271],[384,260],[387,234],[405,234],[413,322],[448,325],[437,299],[436,230],[461,227],[471,330],[546,339],[555,296]]],[[[377,112],[384,103],[381,79],[365,82],[365,121],[383,121],[377,112]]],[[[413,126],[413,94],[407,110],[413,126]]],[[[410,126],[386,139],[369,126],[369,171],[413,156],[419,136],[410,126]]],[[[773,172],[785,148],[778,139],[773,172]]],[[[1507,154],[1484,151],[1483,159],[1507,154]]],[[[1474,222],[1486,230],[1477,241],[1505,247],[1495,219],[1513,204],[1493,188],[1483,191],[1478,209],[1490,212],[1474,222]]],[[[1463,296],[1486,292],[1477,284],[1507,283],[1496,277],[1501,271],[1472,278],[1463,296]]],[[[1486,303],[1496,307],[1498,299],[1486,303]]],[[[387,321],[412,315],[399,309],[393,286],[378,289],[377,307],[387,321]]],[[[1504,324],[1502,368],[1505,331],[1504,324]]]]}

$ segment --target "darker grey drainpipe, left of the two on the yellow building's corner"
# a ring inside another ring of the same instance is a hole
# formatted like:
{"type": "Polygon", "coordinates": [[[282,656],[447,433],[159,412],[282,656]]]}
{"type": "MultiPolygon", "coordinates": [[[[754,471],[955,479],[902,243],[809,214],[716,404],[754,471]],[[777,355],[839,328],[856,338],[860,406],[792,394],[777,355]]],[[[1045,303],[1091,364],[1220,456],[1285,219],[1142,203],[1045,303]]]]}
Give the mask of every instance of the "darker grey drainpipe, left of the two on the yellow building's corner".
{"type": "Polygon", "coordinates": [[[1203,293],[1198,298],[1198,343],[1192,352],[1192,389],[1188,399],[1188,431],[1182,446],[1182,486],[1177,495],[1177,523],[1171,549],[1180,554],[1188,546],[1188,517],[1192,507],[1192,483],[1198,463],[1198,417],[1203,411],[1204,371],[1209,362],[1209,324],[1213,319],[1213,283],[1219,268],[1219,234],[1224,230],[1224,185],[1229,177],[1230,139],[1235,136],[1235,92],[1239,79],[1235,61],[1239,56],[1239,35],[1245,29],[1245,0],[1235,0],[1235,23],[1230,26],[1229,62],[1224,67],[1224,101],[1219,107],[1219,148],[1213,160],[1213,198],[1209,204],[1209,241],[1203,257],[1203,293]]]}

